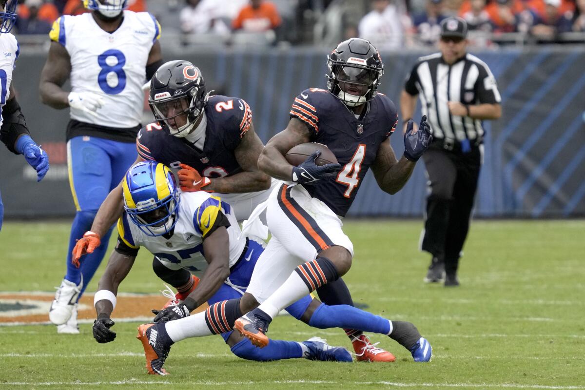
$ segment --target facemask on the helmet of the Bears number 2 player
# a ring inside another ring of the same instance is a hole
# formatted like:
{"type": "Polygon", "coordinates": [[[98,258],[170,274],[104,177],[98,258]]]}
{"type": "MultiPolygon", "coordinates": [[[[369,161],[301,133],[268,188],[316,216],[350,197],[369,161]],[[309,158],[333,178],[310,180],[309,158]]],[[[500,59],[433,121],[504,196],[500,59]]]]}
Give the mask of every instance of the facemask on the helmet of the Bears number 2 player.
{"type": "Polygon", "coordinates": [[[184,137],[191,132],[205,109],[209,94],[204,87],[192,87],[185,94],[170,96],[168,92],[154,95],[149,99],[154,118],[164,123],[171,135],[184,137]]]}

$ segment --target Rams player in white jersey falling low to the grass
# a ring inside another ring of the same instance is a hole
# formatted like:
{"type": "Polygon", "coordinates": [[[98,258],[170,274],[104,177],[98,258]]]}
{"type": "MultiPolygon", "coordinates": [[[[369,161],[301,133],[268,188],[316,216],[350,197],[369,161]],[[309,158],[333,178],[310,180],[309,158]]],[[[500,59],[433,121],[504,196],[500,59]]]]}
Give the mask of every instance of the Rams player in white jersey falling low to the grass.
{"type": "MultiPolygon", "coordinates": [[[[119,284],[128,275],[140,246],[152,252],[161,268],[168,274],[183,268],[201,277],[184,301],[166,309],[153,310],[154,321],[174,320],[190,315],[204,302],[214,305],[230,298],[240,298],[246,290],[257,258],[263,246],[254,237],[240,237],[234,210],[217,196],[204,191],[181,194],[173,173],[163,164],[145,161],[130,168],[123,180],[125,213],[118,220],[118,245],[99,280],[94,298],[98,318],[93,334],[98,343],[109,343],[116,337],[111,330],[110,315],[116,305],[119,284]]],[[[188,277],[190,278],[190,277],[188,277]]],[[[236,304],[234,299],[234,305],[236,304]]],[[[287,310],[300,318],[311,303],[309,295],[293,303],[287,310]]],[[[221,310],[229,308],[221,308],[221,310]]],[[[209,312],[209,319],[216,320],[209,312]]],[[[221,315],[220,315],[221,317],[221,315]]],[[[177,321],[173,321],[180,325],[177,321]]],[[[190,327],[186,327],[188,332],[190,327]]],[[[295,341],[271,340],[271,348],[259,350],[249,340],[233,333],[221,322],[223,339],[236,356],[249,360],[280,360],[308,358],[310,360],[352,361],[342,347],[328,346],[322,339],[295,341]]],[[[147,327],[142,325],[140,327],[147,327]]],[[[179,332],[183,329],[179,326],[179,332]]],[[[156,334],[155,334],[156,343],[156,334]]],[[[138,339],[148,344],[149,338],[138,339]]],[[[152,360],[152,359],[151,359],[152,360]]],[[[150,374],[166,374],[163,361],[152,363],[147,358],[150,374]]],[[[156,357],[154,358],[156,360],[156,357]]]]}

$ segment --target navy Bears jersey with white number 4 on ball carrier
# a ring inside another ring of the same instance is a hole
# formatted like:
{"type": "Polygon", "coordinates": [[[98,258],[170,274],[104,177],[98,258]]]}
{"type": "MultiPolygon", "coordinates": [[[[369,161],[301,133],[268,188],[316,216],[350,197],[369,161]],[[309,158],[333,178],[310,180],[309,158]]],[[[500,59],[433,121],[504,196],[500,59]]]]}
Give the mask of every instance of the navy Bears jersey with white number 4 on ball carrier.
{"type": "Polygon", "coordinates": [[[302,120],[309,129],[310,141],[326,145],[342,165],[336,180],[305,186],[311,196],[321,199],[339,216],[349,210],[380,144],[398,122],[396,107],[386,95],[378,93],[367,110],[361,120],[357,119],[342,101],[317,88],[305,89],[292,104],[291,118],[302,120]]]}

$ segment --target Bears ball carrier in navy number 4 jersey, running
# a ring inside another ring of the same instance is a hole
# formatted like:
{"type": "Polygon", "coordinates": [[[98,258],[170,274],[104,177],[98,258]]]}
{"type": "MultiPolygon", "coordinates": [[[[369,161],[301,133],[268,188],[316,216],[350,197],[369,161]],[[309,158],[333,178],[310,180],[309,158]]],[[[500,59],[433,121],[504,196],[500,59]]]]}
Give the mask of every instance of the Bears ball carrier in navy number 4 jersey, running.
{"type": "MultiPolygon", "coordinates": [[[[384,65],[370,42],[353,38],[340,43],[328,56],[327,66],[328,89],[305,89],[294,99],[287,128],[267,143],[258,161],[261,170],[285,181],[267,201],[272,239],[242,298],[261,304],[235,322],[235,329],[260,347],[266,346],[266,329],[283,307],[349,270],[353,245],[340,218],[352,205],[367,170],[371,167],[383,191],[395,194],[432,140],[425,116],[418,131],[410,120],[404,156],[395,157],[388,137],[398,114],[394,103],[377,93],[384,65]],[[306,142],[325,144],[339,164],[319,167],[318,151],[297,167],[289,164],[284,158],[287,151],[306,142]]],[[[347,333],[362,338],[365,358],[378,360],[378,355],[367,353],[369,342],[363,334],[347,333]]],[[[408,348],[415,361],[431,358],[430,345],[416,328],[390,322],[378,333],[408,348]]]]}

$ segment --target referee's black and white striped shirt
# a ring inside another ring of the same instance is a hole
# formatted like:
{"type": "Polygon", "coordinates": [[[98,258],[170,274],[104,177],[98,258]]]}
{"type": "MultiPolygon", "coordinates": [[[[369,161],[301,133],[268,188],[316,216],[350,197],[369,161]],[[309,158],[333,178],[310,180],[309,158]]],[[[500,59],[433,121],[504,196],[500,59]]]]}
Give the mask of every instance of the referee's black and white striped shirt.
{"type": "Polygon", "coordinates": [[[447,102],[476,105],[501,101],[490,68],[469,53],[452,65],[443,61],[441,53],[419,58],[404,89],[412,96],[419,95],[433,137],[443,140],[481,140],[484,134],[480,119],[451,115],[447,102]]]}

